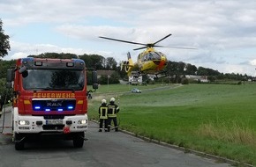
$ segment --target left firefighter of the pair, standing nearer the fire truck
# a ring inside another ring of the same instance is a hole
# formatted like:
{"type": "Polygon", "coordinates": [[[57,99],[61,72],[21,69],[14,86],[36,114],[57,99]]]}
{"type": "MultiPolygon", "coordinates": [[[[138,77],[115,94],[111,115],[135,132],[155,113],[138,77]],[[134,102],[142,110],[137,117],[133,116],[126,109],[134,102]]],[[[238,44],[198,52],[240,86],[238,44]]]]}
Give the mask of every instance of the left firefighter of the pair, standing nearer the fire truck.
{"type": "Polygon", "coordinates": [[[102,127],[104,124],[105,132],[108,131],[108,106],[106,99],[102,99],[102,105],[99,107],[99,118],[100,118],[100,129],[99,132],[102,132],[102,127]]]}

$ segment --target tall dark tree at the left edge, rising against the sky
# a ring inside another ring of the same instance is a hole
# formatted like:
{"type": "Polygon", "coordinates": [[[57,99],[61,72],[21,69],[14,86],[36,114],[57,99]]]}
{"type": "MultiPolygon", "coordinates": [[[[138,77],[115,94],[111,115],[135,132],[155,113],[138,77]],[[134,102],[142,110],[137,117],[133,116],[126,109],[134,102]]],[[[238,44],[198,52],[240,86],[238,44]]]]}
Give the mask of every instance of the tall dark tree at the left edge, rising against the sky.
{"type": "Polygon", "coordinates": [[[3,22],[0,19],[0,58],[8,54],[8,50],[11,48],[9,43],[9,36],[4,34],[2,26],[3,22]]]}

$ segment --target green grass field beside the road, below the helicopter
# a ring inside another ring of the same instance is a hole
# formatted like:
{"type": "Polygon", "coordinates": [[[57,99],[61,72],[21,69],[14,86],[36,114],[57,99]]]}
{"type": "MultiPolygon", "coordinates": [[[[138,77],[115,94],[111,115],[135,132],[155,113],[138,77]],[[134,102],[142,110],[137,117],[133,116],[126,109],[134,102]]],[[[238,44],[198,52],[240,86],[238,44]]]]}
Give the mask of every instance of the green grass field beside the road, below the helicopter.
{"type": "Polygon", "coordinates": [[[256,165],[256,84],[102,85],[89,100],[120,105],[120,128],[151,139],[256,165]]]}

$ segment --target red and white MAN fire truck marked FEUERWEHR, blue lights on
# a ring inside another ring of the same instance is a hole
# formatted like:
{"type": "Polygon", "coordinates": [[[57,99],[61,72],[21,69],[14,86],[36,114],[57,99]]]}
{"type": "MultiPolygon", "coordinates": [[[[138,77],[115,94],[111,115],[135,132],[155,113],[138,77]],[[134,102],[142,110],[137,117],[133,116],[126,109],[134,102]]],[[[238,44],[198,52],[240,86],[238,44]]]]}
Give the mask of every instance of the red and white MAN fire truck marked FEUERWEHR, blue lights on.
{"type": "MultiPolygon", "coordinates": [[[[96,71],[93,89],[98,89],[96,71]]],[[[54,136],[83,147],[87,131],[87,68],[80,59],[22,58],[7,71],[15,149],[35,137],[54,136]]]]}

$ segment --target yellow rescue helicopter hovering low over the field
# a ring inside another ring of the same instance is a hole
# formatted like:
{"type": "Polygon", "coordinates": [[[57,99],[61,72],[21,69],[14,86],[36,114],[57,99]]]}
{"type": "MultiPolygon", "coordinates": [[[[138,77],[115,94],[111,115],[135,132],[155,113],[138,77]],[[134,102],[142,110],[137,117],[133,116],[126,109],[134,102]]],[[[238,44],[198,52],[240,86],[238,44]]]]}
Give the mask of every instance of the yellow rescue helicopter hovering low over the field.
{"type": "MultiPolygon", "coordinates": [[[[141,74],[152,74],[152,75],[157,76],[158,74],[161,74],[162,72],[164,72],[163,69],[166,67],[168,61],[167,61],[166,55],[162,54],[162,52],[155,51],[154,47],[163,47],[163,46],[159,46],[159,45],[155,45],[155,44],[168,38],[170,35],[171,34],[168,34],[161,40],[157,40],[154,43],[148,43],[148,44],[132,42],[132,41],[127,41],[127,40],[117,40],[117,39],[112,39],[109,37],[102,37],[102,36],[100,36],[99,38],[102,38],[105,40],[116,40],[119,42],[125,42],[125,43],[145,46],[145,47],[139,47],[139,48],[133,49],[133,50],[139,50],[139,49],[147,48],[145,51],[143,51],[142,53],[140,53],[138,55],[137,62],[135,62],[135,63],[132,62],[131,54],[130,54],[130,52],[128,52],[128,54],[127,54],[128,61],[122,62],[121,70],[124,68],[127,75],[131,76],[132,69],[136,66],[136,64],[138,64],[139,71],[137,72],[138,74],[136,76],[139,76],[141,74]]],[[[193,49],[193,48],[189,48],[189,47],[172,47],[172,48],[193,49]]]]}

